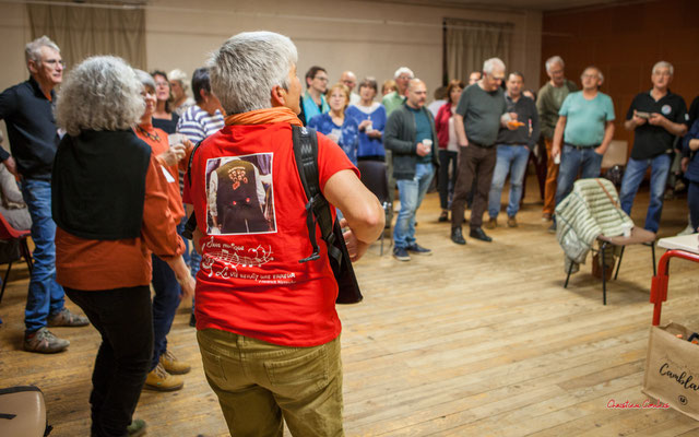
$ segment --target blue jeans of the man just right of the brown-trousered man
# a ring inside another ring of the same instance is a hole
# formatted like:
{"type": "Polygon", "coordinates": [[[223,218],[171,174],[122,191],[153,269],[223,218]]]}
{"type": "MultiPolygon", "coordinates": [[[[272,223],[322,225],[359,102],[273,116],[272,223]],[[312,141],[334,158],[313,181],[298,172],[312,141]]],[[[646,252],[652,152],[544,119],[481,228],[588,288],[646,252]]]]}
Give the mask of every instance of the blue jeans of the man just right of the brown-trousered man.
{"type": "Polygon", "coordinates": [[[493,182],[490,182],[490,193],[488,194],[488,214],[491,218],[498,216],[500,212],[500,194],[505,186],[510,168],[510,196],[507,205],[507,215],[513,217],[520,210],[522,199],[522,180],[529,161],[529,149],[525,145],[499,144],[497,150],[497,161],[493,172],[493,182]]]}

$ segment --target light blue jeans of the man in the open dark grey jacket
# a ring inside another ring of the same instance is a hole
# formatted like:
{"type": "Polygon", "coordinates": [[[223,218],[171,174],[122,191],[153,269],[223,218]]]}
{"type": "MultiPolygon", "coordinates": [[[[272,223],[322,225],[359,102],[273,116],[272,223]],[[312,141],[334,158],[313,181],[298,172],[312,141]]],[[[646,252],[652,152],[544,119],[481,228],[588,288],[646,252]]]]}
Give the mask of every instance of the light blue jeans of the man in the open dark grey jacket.
{"type": "Polygon", "coordinates": [[[401,212],[395,220],[393,243],[396,248],[406,248],[415,244],[415,212],[423,203],[427,188],[433,181],[435,169],[431,164],[416,164],[412,179],[396,180],[401,199],[401,212]]]}

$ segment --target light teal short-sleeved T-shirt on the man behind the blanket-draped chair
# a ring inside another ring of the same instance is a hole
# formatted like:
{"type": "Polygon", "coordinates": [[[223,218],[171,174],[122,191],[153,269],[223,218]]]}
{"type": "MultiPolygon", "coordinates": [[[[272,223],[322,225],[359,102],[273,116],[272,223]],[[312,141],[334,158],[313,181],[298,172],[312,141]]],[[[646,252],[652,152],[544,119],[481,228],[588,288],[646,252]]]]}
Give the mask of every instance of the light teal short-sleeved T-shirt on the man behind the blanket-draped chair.
{"type": "Polygon", "coordinates": [[[578,146],[597,146],[604,139],[607,121],[614,120],[614,104],[612,97],[597,92],[593,99],[588,101],[582,91],[570,93],[558,111],[567,117],[564,142],[578,146]]]}

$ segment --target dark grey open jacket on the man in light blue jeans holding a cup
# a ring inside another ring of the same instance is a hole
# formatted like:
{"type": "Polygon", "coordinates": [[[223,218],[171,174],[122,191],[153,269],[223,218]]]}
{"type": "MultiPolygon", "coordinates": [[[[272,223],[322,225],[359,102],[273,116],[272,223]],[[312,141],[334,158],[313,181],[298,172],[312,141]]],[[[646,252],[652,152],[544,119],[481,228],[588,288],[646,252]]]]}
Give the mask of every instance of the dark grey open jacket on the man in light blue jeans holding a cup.
{"type": "MultiPolygon", "coordinates": [[[[425,107],[420,110],[425,111],[433,128],[433,165],[438,167],[435,118],[425,107]]],[[[415,165],[419,158],[415,137],[415,117],[403,104],[391,113],[383,131],[383,146],[393,152],[393,177],[395,179],[412,179],[415,177],[415,165]]]]}

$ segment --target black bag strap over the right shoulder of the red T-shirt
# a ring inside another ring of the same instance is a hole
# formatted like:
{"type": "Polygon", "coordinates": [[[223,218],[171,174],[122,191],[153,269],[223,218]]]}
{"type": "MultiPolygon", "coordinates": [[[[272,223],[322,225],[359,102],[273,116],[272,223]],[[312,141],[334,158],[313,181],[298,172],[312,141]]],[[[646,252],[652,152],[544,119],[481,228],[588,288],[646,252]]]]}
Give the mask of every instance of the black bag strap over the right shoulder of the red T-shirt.
{"type": "Polygon", "coordinates": [[[292,126],[294,142],[294,156],[296,168],[304,186],[304,191],[308,198],[306,203],[306,225],[308,226],[308,237],[310,238],[313,252],[310,257],[298,262],[307,262],[320,258],[318,241],[316,239],[316,224],[320,226],[320,234],[328,246],[328,255],[337,264],[342,263],[342,251],[334,245],[335,235],[333,233],[333,221],[330,212],[330,203],[320,191],[318,173],[318,137],[310,128],[292,126]]]}

